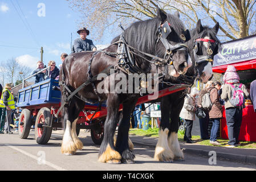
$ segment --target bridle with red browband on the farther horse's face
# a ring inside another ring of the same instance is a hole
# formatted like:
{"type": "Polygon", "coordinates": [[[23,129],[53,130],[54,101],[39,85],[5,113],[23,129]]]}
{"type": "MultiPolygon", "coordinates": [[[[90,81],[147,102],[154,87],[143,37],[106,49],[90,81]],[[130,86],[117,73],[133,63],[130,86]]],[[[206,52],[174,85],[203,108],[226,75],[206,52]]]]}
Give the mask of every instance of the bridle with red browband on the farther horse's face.
{"type": "Polygon", "coordinates": [[[214,49],[215,49],[216,46],[218,46],[218,44],[213,39],[198,38],[198,39],[194,40],[193,55],[194,55],[195,63],[197,65],[200,63],[204,63],[204,62],[210,62],[213,65],[213,56],[214,55],[213,55],[213,50],[212,50],[212,43],[215,44],[214,45],[214,49]],[[205,55],[197,55],[198,42],[207,42],[208,43],[208,47],[207,47],[208,55],[206,55],[206,56],[205,55]]]}

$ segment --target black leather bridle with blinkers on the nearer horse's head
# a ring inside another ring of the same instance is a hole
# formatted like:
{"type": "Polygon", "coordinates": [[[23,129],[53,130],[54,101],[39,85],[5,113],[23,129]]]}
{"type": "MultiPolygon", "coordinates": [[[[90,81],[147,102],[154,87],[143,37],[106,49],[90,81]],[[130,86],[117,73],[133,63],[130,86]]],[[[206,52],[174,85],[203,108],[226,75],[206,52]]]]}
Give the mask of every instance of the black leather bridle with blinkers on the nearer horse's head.
{"type": "MultiPolygon", "coordinates": [[[[156,45],[159,42],[159,40],[161,40],[162,44],[166,49],[164,60],[166,60],[166,63],[168,65],[173,64],[173,51],[188,51],[188,46],[186,46],[184,43],[178,43],[173,46],[168,42],[167,37],[169,36],[170,32],[172,32],[172,29],[170,28],[170,23],[168,23],[167,21],[164,24],[160,23],[160,26],[156,32],[159,33],[158,38],[156,40],[156,45]]],[[[180,38],[184,41],[188,41],[190,39],[189,30],[185,31],[185,35],[181,34],[180,38]]]]}

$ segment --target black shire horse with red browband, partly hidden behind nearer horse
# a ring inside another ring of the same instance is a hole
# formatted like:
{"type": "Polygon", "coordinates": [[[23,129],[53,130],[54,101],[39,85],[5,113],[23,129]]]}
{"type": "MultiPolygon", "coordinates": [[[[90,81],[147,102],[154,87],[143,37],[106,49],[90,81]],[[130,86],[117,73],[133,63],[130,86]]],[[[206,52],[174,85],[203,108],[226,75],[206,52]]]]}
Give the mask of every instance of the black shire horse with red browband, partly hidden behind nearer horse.
{"type": "MultiPolygon", "coordinates": [[[[169,82],[178,84],[185,80],[188,84],[193,84],[196,76],[204,83],[212,79],[213,56],[218,53],[220,44],[217,38],[218,29],[218,22],[213,28],[209,28],[203,27],[201,20],[198,20],[196,28],[190,31],[192,38],[187,42],[193,66],[188,69],[185,76],[171,77],[169,82]]],[[[177,135],[179,115],[185,98],[183,92],[161,98],[161,123],[155,160],[162,162],[173,162],[173,159],[184,160],[177,135]]]]}

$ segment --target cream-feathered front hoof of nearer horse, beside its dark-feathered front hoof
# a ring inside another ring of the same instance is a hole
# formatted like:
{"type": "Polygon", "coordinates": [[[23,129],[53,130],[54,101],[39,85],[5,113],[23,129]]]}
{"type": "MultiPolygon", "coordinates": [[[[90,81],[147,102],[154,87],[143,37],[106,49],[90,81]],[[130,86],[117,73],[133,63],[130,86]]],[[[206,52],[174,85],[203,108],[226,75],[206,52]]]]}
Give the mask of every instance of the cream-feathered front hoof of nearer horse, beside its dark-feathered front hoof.
{"type": "Polygon", "coordinates": [[[119,154],[119,152],[113,150],[108,144],[103,154],[99,156],[98,161],[101,163],[116,164],[121,162],[121,155],[119,154]]]}

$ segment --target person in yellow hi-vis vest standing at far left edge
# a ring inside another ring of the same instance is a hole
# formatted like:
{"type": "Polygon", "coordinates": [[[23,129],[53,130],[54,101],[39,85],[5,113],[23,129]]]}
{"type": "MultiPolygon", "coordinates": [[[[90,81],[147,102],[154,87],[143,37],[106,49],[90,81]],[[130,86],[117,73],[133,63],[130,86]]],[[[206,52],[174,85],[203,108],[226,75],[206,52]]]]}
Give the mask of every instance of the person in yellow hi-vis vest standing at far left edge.
{"type": "Polygon", "coordinates": [[[12,113],[11,110],[15,109],[13,94],[11,94],[9,90],[11,88],[13,88],[13,84],[5,85],[5,87],[3,88],[1,100],[0,100],[0,107],[6,107],[7,118],[8,118],[8,121],[6,121],[6,117],[5,117],[5,133],[10,133],[10,134],[13,133],[10,130],[11,113],[12,113]]]}

